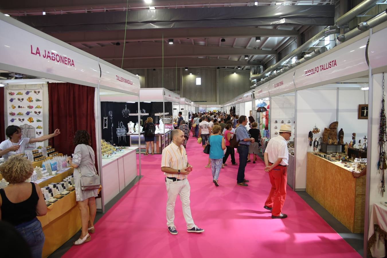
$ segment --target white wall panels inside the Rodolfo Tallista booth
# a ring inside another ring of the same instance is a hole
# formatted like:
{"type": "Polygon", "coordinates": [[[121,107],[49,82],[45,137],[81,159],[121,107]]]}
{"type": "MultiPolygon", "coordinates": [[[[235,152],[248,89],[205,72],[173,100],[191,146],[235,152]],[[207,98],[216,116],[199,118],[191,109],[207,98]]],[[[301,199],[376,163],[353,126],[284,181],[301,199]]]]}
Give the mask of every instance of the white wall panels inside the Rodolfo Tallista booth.
{"type": "Polygon", "coordinates": [[[341,128],[344,131],[344,143],[352,139],[352,133],[356,133],[356,142],[364,136],[368,137],[368,120],[358,119],[358,105],[365,102],[368,104],[368,91],[360,90],[364,84],[359,84],[355,90],[344,87],[334,89],[332,85],[340,87],[340,84],[330,84],[296,93],[296,190],[306,188],[307,152],[313,151],[313,147],[309,146],[308,133],[313,126],[320,129],[320,133],[313,135],[317,140],[322,136],[324,128],[328,128],[334,121],[339,122],[337,132],[341,128]]]}

